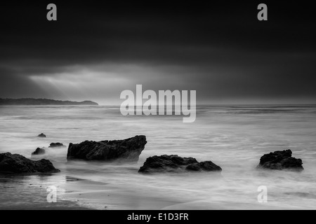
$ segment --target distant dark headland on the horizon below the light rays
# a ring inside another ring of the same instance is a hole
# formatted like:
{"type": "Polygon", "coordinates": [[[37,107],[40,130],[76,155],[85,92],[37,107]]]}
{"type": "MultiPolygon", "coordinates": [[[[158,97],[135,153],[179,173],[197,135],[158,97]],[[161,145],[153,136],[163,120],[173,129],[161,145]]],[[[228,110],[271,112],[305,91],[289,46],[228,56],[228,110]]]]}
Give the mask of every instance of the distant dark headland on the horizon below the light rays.
{"type": "Polygon", "coordinates": [[[69,105],[69,106],[79,106],[79,105],[87,105],[87,106],[98,106],[96,102],[92,101],[83,101],[83,102],[72,102],[72,101],[62,101],[55,99],[34,99],[34,98],[22,98],[22,99],[1,99],[0,105],[31,105],[31,106],[39,106],[39,105],[69,105]]]}

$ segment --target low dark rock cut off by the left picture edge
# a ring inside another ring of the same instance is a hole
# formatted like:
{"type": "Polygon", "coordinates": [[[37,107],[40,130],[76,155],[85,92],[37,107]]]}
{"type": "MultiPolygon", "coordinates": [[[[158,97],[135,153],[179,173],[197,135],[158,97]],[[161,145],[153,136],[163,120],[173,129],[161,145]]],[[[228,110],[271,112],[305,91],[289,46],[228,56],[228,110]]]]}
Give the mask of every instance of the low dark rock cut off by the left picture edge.
{"type": "Polygon", "coordinates": [[[34,161],[18,154],[0,154],[0,173],[36,174],[56,172],[60,172],[60,170],[55,169],[49,160],[34,161]]]}

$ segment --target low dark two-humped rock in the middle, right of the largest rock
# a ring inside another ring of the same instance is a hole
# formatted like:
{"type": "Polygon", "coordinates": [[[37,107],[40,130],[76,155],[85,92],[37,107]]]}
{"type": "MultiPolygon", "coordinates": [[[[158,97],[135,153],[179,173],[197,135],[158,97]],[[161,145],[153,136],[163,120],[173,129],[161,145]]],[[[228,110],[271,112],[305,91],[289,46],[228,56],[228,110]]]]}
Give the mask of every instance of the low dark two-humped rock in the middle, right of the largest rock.
{"type": "Polygon", "coordinates": [[[154,155],[140,167],[140,173],[157,172],[220,172],[222,169],[211,161],[197,162],[195,158],[182,158],[178,155],[154,155]]]}

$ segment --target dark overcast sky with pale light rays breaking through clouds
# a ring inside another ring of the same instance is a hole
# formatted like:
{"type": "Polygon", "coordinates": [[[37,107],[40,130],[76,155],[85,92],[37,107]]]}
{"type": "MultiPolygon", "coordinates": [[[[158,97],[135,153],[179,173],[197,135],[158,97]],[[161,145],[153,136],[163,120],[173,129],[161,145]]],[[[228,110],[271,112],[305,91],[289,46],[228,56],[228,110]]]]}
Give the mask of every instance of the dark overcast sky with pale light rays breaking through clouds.
{"type": "Polygon", "coordinates": [[[264,22],[261,1],[100,2],[1,3],[0,97],[120,104],[143,84],[197,90],[200,104],[316,103],[316,16],[303,1],[263,1],[264,22]]]}

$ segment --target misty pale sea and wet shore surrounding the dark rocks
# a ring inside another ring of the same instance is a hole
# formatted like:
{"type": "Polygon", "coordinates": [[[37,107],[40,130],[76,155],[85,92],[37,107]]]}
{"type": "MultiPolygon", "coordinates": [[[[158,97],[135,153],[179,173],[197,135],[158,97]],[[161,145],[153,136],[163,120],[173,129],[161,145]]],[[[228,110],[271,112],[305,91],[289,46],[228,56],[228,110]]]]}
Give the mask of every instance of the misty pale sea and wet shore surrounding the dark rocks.
{"type": "Polygon", "coordinates": [[[0,176],[0,209],[51,209],[46,188],[58,188],[65,209],[315,209],[316,106],[197,106],[195,123],[182,116],[122,116],[119,106],[0,106],[0,153],[27,158],[52,142],[127,139],[143,134],[137,164],[67,162],[67,147],[46,155],[58,174],[0,176]],[[41,139],[37,135],[46,134],[41,139]],[[291,149],[303,172],[257,170],[265,153],[291,149]],[[223,171],[138,174],[146,158],[173,154],[211,160],[223,171]],[[258,202],[258,187],[268,202],[258,202]],[[74,202],[74,203],[68,203],[74,202]]]}

